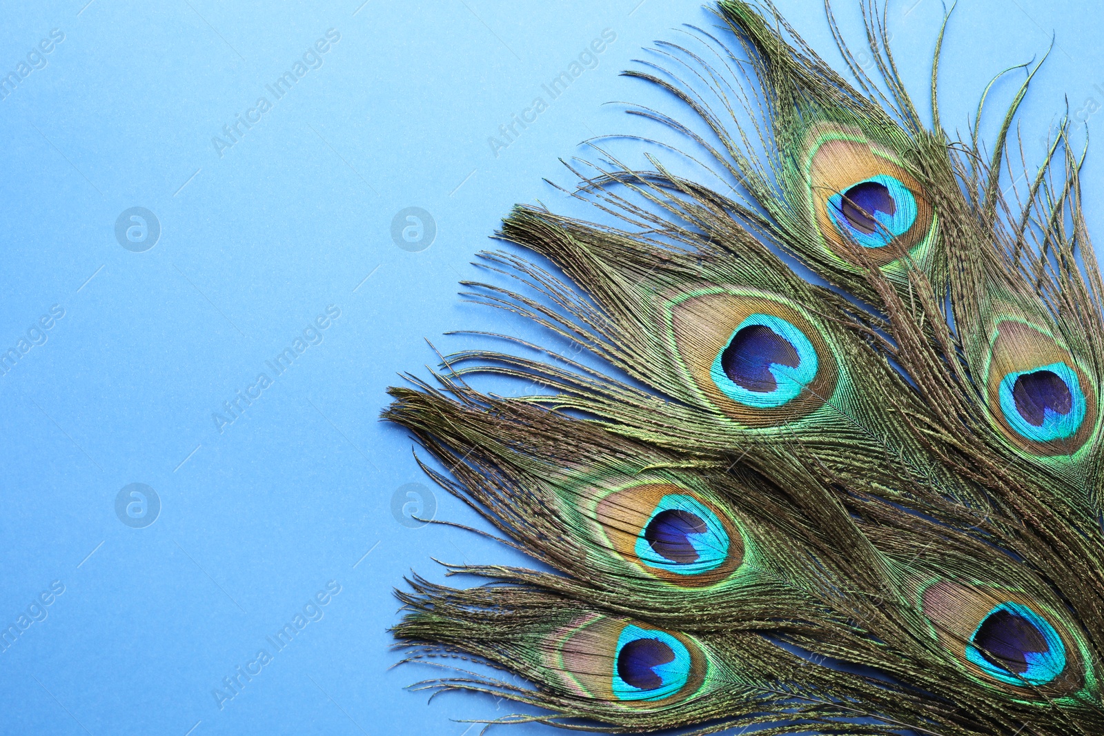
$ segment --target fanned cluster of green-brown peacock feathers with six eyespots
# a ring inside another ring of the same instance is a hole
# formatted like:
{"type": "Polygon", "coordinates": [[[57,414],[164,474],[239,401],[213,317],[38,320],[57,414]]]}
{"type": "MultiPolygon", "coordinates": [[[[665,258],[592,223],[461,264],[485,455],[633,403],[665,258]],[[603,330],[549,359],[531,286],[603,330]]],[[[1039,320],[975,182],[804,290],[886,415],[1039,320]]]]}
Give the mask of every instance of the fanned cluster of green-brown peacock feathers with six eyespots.
{"type": "Polygon", "coordinates": [[[976,126],[952,140],[938,45],[928,127],[863,12],[877,82],[830,10],[853,82],[737,1],[696,29],[711,56],[665,43],[666,67],[627,73],[692,110],[697,127],[630,111],[728,188],[649,157],[575,170],[613,225],[507,217],[499,237],[534,258],[482,254],[509,288],[469,297],[609,370],[524,343],[391,390],[384,417],[434,480],[558,570],[411,580],[394,633],[412,659],[527,683],[428,686],[614,733],[1104,734],[1104,288],[1083,153],[1062,126],[1002,192],[1027,83],[991,151],[976,126]],[[477,373],[542,391],[488,395],[477,373]]]}

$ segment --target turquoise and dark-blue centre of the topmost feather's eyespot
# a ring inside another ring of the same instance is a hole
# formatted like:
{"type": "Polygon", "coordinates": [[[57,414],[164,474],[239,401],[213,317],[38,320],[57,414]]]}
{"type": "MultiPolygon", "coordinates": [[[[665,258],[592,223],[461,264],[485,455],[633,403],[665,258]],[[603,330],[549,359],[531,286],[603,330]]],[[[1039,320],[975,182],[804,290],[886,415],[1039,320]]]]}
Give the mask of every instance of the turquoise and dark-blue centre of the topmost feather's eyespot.
{"type": "Polygon", "coordinates": [[[916,222],[916,198],[889,174],[874,174],[828,198],[836,227],[864,248],[881,248],[916,222]]]}

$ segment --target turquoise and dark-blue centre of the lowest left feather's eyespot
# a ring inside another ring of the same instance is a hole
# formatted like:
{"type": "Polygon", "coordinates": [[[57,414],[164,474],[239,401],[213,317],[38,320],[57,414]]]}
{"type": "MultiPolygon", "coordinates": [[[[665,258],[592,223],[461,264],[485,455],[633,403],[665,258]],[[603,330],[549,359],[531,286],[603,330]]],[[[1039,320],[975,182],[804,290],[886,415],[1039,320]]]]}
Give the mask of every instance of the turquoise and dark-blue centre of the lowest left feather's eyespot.
{"type": "Polygon", "coordinates": [[[690,681],[690,651],[667,633],[629,623],[617,638],[613,691],[623,701],[660,701],[690,681]]]}

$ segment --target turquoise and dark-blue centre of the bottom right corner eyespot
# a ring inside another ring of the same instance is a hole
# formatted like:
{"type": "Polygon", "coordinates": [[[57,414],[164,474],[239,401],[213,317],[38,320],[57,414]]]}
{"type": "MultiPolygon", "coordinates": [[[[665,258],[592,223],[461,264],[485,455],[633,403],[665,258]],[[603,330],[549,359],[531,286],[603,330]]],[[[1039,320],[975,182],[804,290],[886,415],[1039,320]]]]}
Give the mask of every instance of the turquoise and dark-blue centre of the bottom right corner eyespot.
{"type": "Polygon", "coordinates": [[[1065,644],[1047,619],[1008,601],[986,614],[966,646],[966,659],[1010,685],[1045,685],[1065,669],[1065,644]]]}

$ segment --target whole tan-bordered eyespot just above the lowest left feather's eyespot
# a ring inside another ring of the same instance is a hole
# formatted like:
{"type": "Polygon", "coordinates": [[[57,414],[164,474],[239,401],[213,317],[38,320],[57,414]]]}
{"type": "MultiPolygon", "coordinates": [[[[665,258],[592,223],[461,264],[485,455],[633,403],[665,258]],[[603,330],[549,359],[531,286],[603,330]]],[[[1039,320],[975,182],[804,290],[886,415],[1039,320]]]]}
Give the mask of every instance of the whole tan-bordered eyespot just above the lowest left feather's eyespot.
{"type": "Polygon", "coordinates": [[[615,490],[598,501],[595,516],[622,557],[681,587],[713,585],[744,558],[744,538],[729,515],[673,483],[615,490]]]}

